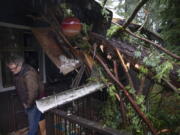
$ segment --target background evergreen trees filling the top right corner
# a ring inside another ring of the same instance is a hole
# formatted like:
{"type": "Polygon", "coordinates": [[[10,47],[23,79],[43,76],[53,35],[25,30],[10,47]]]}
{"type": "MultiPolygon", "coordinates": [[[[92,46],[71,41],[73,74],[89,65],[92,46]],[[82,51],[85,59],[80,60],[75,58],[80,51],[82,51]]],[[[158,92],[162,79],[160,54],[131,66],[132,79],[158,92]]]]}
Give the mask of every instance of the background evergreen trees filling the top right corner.
{"type": "Polygon", "coordinates": [[[149,11],[147,29],[165,40],[165,46],[173,53],[180,55],[180,14],[179,0],[150,0],[145,6],[149,11]]]}

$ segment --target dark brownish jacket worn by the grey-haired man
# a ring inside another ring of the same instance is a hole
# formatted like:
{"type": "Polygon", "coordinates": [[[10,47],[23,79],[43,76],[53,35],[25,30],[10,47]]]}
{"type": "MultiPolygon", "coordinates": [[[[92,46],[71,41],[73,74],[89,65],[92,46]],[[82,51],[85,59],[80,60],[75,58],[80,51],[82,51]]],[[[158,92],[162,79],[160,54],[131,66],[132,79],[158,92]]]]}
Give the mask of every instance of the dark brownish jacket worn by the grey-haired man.
{"type": "Polygon", "coordinates": [[[44,94],[44,86],[40,76],[30,65],[23,64],[21,71],[14,76],[17,94],[28,108],[44,94]]]}

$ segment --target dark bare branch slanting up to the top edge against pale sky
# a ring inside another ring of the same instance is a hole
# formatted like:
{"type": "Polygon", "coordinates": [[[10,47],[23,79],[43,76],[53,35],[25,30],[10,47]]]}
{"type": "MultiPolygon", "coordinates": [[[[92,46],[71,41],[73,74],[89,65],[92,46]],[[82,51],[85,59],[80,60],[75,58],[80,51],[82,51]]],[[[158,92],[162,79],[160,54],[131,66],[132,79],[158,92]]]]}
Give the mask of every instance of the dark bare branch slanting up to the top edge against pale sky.
{"type": "Polygon", "coordinates": [[[141,0],[137,7],[134,9],[133,13],[131,14],[131,16],[128,18],[128,20],[126,21],[126,23],[123,25],[123,28],[126,29],[126,27],[131,23],[131,21],[134,19],[134,17],[136,16],[137,12],[141,9],[141,7],[147,2],[148,0],[141,0]]]}

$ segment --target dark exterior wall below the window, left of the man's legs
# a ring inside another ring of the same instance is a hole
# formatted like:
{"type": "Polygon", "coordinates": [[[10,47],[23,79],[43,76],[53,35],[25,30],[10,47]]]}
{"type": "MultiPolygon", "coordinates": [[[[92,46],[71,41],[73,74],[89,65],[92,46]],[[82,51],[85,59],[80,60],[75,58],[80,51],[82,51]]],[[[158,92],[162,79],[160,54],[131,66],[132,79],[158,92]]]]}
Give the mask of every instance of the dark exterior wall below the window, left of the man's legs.
{"type": "Polygon", "coordinates": [[[27,117],[15,91],[0,93],[0,133],[27,126],[27,117]]]}

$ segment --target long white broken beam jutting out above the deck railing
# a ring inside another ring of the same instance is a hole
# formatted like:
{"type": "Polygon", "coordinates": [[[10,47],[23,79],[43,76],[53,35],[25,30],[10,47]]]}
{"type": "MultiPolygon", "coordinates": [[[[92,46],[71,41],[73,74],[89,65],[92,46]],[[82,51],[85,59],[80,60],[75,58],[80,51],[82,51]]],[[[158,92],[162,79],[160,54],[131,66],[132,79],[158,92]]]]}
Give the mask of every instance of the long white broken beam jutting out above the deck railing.
{"type": "Polygon", "coordinates": [[[36,101],[37,108],[43,113],[57,106],[69,103],[75,99],[91,94],[105,87],[102,83],[87,84],[80,88],[67,90],[36,101]]]}

